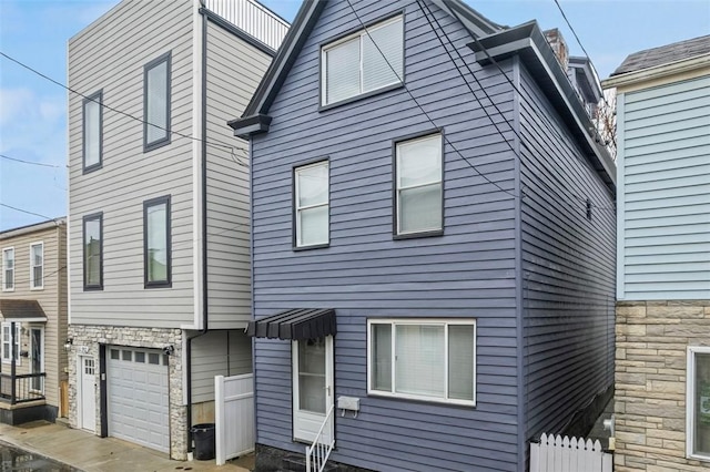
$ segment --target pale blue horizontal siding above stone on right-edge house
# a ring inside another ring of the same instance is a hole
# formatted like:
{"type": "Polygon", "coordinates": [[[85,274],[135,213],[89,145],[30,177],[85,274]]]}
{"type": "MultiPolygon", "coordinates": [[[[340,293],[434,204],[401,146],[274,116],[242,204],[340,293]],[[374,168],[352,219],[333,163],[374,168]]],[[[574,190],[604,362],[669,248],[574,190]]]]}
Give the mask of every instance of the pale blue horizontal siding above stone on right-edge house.
{"type": "Polygon", "coordinates": [[[619,98],[619,298],[710,298],[710,76],[619,98]]]}

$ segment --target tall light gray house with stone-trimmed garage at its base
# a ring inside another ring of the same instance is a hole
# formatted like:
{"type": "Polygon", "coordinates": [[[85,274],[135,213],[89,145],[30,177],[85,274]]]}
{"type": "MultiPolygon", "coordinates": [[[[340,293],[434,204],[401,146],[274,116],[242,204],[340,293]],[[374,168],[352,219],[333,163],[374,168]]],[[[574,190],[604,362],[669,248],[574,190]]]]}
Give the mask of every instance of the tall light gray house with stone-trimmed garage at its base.
{"type": "Polygon", "coordinates": [[[287,23],[252,0],[116,3],[69,41],[70,422],[185,459],[252,371],[248,102],[287,23]]]}

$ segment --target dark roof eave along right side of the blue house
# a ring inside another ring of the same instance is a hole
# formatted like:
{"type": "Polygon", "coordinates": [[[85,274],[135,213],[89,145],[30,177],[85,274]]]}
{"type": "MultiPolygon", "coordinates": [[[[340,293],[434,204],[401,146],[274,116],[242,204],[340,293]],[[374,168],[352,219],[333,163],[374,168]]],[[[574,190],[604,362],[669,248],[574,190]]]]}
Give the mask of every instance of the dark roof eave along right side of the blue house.
{"type": "Polygon", "coordinates": [[[548,84],[546,95],[552,106],[568,123],[570,131],[586,151],[587,158],[612,193],[616,193],[616,164],[609,152],[597,142],[596,127],[582,106],[567,74],[559,66],[552,49],[545,39],[537,21],[532,20],[496,34],[480,38],[468,47],[481,65],[494,60],[519,55],[528,71],[540,84],[548,84]]]}

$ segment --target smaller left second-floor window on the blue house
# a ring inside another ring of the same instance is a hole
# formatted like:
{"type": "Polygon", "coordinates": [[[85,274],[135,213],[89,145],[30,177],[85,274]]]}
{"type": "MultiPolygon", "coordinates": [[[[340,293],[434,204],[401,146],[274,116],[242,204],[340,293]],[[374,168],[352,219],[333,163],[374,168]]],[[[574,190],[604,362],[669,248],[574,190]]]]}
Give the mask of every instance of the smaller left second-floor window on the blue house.
{"type": "Polygon", "coordinates": [[[294,168],[295,246],[323,246],[329,242],[328,162],[294,168]]]}

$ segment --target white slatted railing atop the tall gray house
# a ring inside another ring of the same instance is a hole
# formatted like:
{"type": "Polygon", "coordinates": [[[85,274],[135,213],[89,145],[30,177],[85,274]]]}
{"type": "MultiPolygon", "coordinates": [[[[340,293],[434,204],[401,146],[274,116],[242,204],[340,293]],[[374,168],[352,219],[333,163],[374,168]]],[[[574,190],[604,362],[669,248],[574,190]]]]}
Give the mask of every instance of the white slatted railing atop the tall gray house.
{"type": "Polygon", "coordinates": [[[274,51],[288,32],[286,20],[253,0],[206,0],[204,6],[274,51]]]}

